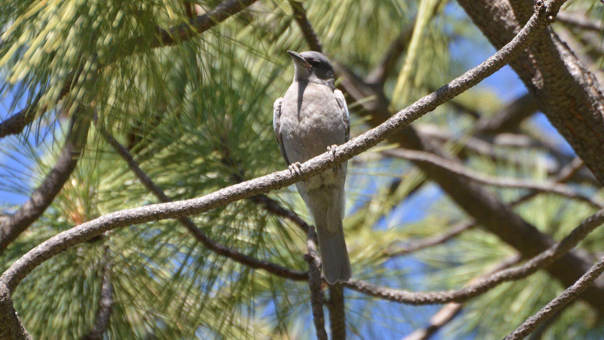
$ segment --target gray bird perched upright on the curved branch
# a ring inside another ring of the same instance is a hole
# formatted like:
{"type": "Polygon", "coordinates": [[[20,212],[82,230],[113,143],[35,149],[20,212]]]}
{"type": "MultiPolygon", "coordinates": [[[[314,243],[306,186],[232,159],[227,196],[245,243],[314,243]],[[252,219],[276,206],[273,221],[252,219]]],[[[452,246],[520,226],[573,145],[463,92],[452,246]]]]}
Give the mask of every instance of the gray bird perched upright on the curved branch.
{"type": "MultiPolygon", "coordinates": [[[[334,85],[333,67],[315,51],[296,53],[294,82],[273,106],[273,127],[281,154],[292,172],[300,163],[348,142],[350,121],[346,100],[334,85]]],[[[346,163],[321,172],[296,188],[316,224],[323,276],[329,284],[350,279],[350,260],[344,241],[344,181],[346,163]]]]}

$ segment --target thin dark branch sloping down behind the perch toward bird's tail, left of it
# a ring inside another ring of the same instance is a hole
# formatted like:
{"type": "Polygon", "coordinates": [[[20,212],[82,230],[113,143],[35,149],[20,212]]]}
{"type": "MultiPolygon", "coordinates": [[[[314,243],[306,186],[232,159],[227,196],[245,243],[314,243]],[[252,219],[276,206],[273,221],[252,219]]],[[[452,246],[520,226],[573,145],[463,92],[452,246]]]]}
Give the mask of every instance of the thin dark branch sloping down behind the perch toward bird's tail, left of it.
{"type": "MultiPolygon", "coordinates": [[[[132,155],[123,145],[120,144],[111,134],[104,129],[102,126],[97,125],[98,130],[101,135],[103,135],[104,139],[109,142],[123,159],[126,161],[130,170],[137,176],[137,178],[143,183],[145,188],[152,192],[155,197],[157,197],[160,201],[167,203],[171,202],[169,197],[165,195],[164,191],[159,188],[153,180],[143,171],[143,169],[138,166],[138,163],[133,159],[132,155]]],[[[283,278],[289,278],[292,280],[307,280],[308,273],[301,272],[300,270],[293,270],[283,266],[280,266],[275,263],[271,263],[268,261],[259,260],[254,257],[250,257],[245,255],[237,250],[231,249],[223,244],[220,244],[210,237],[208,237],[203,230],[199,229],[195,223],[188,217],[181,217],[178,219],[180,223],[187,228],[187,230],[195,237],[199,242],[201,242],[205,247],[216,252],[219,255],[224,257],[228,257],[231,260],[244,264],[248,267],[252,267],[254,269],[264,269],[269,273],[273,273],[277,276],[281,276],[283,278]]]]}

